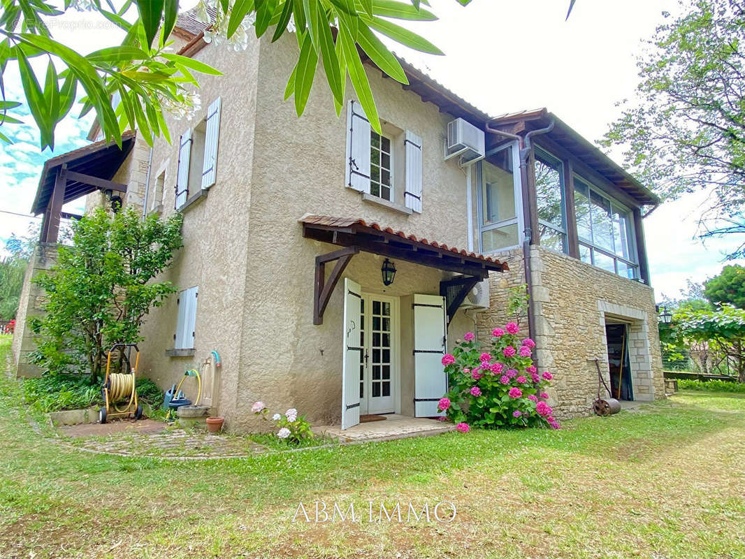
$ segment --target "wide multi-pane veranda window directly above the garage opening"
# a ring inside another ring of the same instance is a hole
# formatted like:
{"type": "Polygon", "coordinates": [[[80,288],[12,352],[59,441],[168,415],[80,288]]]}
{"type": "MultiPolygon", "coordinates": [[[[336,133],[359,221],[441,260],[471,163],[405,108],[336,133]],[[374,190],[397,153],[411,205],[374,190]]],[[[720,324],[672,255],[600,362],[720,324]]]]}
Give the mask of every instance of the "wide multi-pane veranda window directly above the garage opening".
{"type": "Polygon", "coordinates": [[[574,212],[577,214],[580,259],[620,276],[637,278],[630,210],[574,177],[574,212]]]}

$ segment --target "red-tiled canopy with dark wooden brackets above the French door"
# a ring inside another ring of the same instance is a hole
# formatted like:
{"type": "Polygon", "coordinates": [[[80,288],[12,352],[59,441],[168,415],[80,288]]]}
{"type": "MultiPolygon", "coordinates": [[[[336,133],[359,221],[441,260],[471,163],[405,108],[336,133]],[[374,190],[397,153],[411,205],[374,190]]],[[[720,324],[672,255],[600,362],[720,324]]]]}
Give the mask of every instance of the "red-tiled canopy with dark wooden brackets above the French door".
{"type": "Polygon", "coordinates": [[[413,262],[438,270],[460,274],[452,279],[440,282],[440,295],[446,297],[448,323],[469,291],[482,279],[489,277],[489,272],[509,270],[505,262],[489,256],[448,247],[437,241],[419,239],[396,231],[390,227],[381,227],[377,223],[368,224],[363,219],[333,218],[328,215],[305,215],[300,218],[302,236],[305,239],[336,244],[340,248],[333,252],[316,256],[315,282],[313,297],[313,323],[323,323],[323,312],[329,304],[334,288],[352,256],[367,252],[388,256],[393,259],[413,262]],[[328,282],[326,281],[326,264],[336,262],[328,282]]]}

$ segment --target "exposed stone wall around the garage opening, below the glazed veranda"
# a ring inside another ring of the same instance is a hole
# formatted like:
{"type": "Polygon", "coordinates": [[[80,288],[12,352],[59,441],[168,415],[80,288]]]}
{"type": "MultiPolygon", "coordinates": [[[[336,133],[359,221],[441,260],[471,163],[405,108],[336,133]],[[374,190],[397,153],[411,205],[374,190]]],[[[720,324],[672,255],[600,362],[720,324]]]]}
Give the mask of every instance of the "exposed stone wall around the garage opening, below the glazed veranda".
{"type": "MultiPolygon", "coordinates": [[[[478,316],[479,338],[489,339],[507,315],[507,288],[524,284],[522,249],[499,253],[510,271],[490,277],[490,308],[478,316]]],[[[541,247],[530,250],[536,359],[554,373],[551,405],[557,417],[591,413],[597,366],[609,382],[607,323],[626,323],[634,398],[665,397],[654,291],[648,285],[541,247]],[[597,359],[597,364],[596,360],[597,359]]],[[[521,326],[526,326],[522,320],[521,326]]],[[[606,396],[603,389],[601,395],[606,396]]]]}

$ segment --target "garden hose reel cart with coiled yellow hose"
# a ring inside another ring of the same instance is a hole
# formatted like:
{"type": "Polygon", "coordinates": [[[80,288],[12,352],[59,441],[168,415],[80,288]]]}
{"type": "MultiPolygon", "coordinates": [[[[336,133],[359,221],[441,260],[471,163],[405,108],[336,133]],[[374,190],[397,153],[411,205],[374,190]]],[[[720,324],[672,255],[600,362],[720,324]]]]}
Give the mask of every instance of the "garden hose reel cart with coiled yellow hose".
{"type": "Polygon", "coordinates": [[[137,402],[136,373],[139,367],[139,348],[136,344],[114,344],[106,358],[106,375],[101,394],[104,396],[104,407],[98,411],[100,423],[106,423],[110,417],[132,415],[136,420],[142,417],[142,405],[137,402]],[[129,373],[111,372],[111,354],[119,350],[126,358],[129,373]],[[135,363],[132,366],[132,351],[135,352],[135,363]],[[124,352],[127,352],[126,355],[124,352]],[[124,403],[126,402],[126,403],[124,403]],[[123,404],[123,405],[122,405],[123,404]]]}

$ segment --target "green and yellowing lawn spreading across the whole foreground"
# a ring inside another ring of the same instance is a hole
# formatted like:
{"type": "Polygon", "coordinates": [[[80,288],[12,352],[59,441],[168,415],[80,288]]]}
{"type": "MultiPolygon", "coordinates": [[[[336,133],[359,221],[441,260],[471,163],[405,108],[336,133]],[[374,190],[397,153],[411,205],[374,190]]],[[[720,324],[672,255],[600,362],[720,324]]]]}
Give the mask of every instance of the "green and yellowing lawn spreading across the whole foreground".
{"type": "MultiPolygon", "coordinates": [[[[0,340],[0,364],[9,341],[0,340]]],[[[565,429],[174,462],[55,443],[0,376],[0,557],[745,558],[745,397],[565,429]],[[29,421],[38,423],[37,429],[29,421]],[[291,522],[302,501],[453,502],[453,522],[291,522]]]]}

